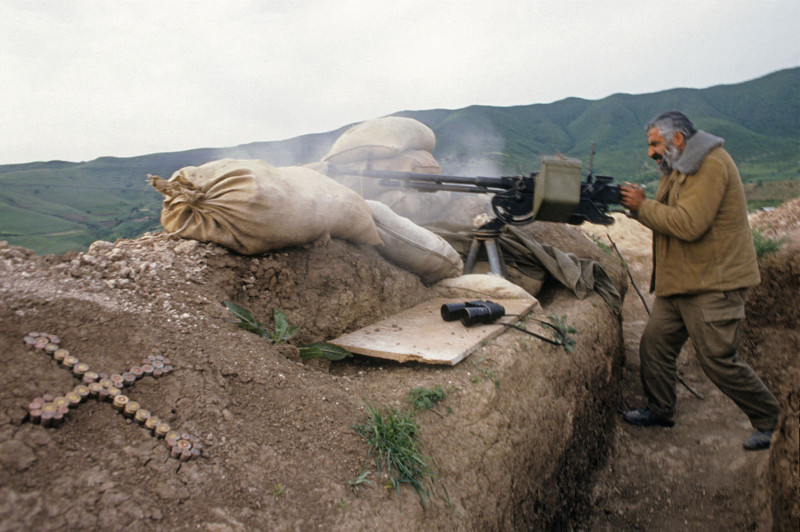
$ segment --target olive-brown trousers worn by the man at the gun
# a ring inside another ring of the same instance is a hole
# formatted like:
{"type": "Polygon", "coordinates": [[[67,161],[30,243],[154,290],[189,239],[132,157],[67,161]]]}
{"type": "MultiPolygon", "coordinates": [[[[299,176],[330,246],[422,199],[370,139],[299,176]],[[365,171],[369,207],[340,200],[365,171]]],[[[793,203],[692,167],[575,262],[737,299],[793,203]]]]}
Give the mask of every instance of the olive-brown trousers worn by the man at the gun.
{"type": "Polygon", "coordinates": [[[675,415],[677,360],[691,338],[703,371],[750,418],[755,429],[778,423],[778,401],[739,358],[747,289],[656,297],[641,342],[642,388],[650,410],[675,415]]]}

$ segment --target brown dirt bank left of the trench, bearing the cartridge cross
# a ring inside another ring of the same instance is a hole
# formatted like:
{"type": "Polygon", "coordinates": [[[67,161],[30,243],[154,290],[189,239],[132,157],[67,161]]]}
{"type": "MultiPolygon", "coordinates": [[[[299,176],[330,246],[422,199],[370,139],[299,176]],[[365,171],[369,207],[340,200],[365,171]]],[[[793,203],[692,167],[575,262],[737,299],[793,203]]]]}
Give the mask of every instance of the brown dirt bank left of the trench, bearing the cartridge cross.
{"type": "MultiPolygon", "coordinates": [[[[624,291],[618,263],[580,232],[527,229],[602,260],[624,291]]],[[[510,331],[455,367],[301,360],[297,345],[430,297],[374,249],[339,240],[257,257],[164,234],[64,257],[4,245],[0,295],[3,529],[547,526],[585,502],[585,472],[602,461],[613,422],[618,317],[596,294],[581,301],[556,286],[542,303],[578,330],[574,353],[510,331]],[[300,332],[271,345],[231,323],[225,300],[268,328],[278,308],[300,332]],[[168,358],[174,371],[123,391],[200,456],[171,458],[163,439],[94,399],[58,428],[29,422],[34,397],[79,382],[23,342],[30,331],[57,335],[98,373],[168,358]],[[436,385],[449,390],[441,411],[417,420],[450,505],[434,497],[424,509],[410,489],[383,489],[350,427],[363,421],[365,400],[406,409],[412,386],[436,385]],[[356,491],[350,481],[365,468],[370,484],[356,491]]]]}

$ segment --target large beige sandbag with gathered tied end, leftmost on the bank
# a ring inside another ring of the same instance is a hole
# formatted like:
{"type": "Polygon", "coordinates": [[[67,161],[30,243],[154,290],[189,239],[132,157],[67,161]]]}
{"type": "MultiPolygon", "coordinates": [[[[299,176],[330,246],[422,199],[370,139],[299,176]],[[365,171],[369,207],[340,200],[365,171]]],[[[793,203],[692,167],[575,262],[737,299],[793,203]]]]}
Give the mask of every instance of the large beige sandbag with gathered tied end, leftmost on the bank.
{"type": "Polygon", "coordinates": [[[184,238],[245,255],[330,237],[381,243],[364,200],[309,168],[221,159],[148,177],[164,195],[161,225],[184,238]]]}

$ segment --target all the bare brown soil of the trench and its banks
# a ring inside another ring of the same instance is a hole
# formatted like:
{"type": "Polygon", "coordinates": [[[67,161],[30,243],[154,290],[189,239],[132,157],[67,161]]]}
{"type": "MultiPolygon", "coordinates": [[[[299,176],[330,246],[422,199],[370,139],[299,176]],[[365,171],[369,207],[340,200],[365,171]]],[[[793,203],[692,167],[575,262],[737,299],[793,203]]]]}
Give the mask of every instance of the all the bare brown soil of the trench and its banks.
{"type": "MultiPolygon", "coordinates": [[[[613,227],[646,292],[646,231],[613,227]]],[[[600,261],[625,293],[619,261],[582,230],[526,231],[600,261]]],[[[620,320],[596,294],[578,300],[545,284],[543,314],[569,316],[574,353],[509,331],[454,367],[306,361],[297,346],[414,306],[431,290],[374,249],[340,240],[257,257],[161,233],[65,256],[0,245],[0,530],[783,529],[798,519],[798,242],[792,233],[762,263],[765,290],[751,294],[749,313],[763,321],[752,322],[743,355],[783,414],[772,451],[758,453],[741,449],[746,419],[688,354],[683,378],[704,400],[679,390],[672,429],[619,422],[641,401],[645,313],[633,290],[620,320]],[[226,300],[267,328],[278,308],[299,332],[272,345],[234,325],[226,300]],[[164,439],[94,399],[59,427],[33,423],[34,397],[78,379],[26,345],[31,331],[57,335],[101,373],[169,359],[173,371],[123,393],[199,455],[170,457],[164,439]],[[407,411],[412,386],[436,385],[448,397],[415,417],[438,472],[423,505],[408,487],[384,489],[351,427],[365,402],[407,411]],[[358,484],[364,471],[368,482],[358,484]]]]}

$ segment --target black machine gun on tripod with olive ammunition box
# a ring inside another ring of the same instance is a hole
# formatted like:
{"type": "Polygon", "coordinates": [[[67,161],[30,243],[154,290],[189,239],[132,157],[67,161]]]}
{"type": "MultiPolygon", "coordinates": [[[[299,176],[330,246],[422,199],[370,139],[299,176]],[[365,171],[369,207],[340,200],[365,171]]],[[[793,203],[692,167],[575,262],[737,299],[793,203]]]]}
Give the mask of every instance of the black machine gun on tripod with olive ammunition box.
{"type": "Polygon", "coordinates": [[[461,177],[392,170],[354,169],[332,166],[328,175],[364,176],[380,179],[380,184],[425,192],[439,190],[493,194],[495,218],[473,231],[465,273],[472,271],[481,244],[485,244],[492,272],[504,276],[505,264],[496,240],[506,225],[525,225],[539,220],[573,225],[585,221],[611,225],[609,205],[619,204],[619,185],[610,176],[592,175],[581,180],[581,162],[562,156],[545,157],[541,171],[529,176],[461,177]]]}

